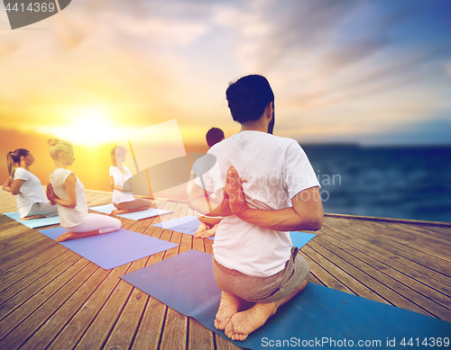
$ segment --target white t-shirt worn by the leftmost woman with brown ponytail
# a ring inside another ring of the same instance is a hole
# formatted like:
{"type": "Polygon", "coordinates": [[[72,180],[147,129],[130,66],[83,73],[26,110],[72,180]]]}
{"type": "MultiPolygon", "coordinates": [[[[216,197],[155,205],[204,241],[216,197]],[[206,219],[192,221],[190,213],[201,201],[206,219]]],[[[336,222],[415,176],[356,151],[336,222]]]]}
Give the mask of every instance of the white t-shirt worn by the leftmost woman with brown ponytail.
{"type": "Polygon", "coordinates": [[[24,218],[32,210],[34,203],[48,202],[44,190],[36,175],[33,175],[23,167],[14,170],[14,180],[23,180],[21,194],[17,195],[17,211],[24,218]]]}

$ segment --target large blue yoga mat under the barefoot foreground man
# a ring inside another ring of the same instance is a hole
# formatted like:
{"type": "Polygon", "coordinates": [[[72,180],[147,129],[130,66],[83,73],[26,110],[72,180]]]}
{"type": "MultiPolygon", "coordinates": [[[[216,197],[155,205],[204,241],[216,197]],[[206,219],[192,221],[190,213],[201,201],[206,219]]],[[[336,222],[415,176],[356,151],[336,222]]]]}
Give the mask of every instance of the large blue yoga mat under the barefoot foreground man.
{"type": "MultiPolygon", "coordinates": [[[[214,327],[221,291],[213,276],[211,259],[207,253],[189,250],[121,278],[229,339],[224,331],[214,327]]],[[[262,328],[243,342],[233,343],[251,349],[267,349],[277,344],[280,344],[277,348],[341,348],[345,344],[351,346],[351,342],[358,347],[359,341],[370,340],[381,343],[366,348],[405,349],[400,344],[403,338],[406,343],[410,337],[419,338],[419,346],[413,348],[422,348],[423,339],[441,337],[443,341],[450,334],[449,322],[308,283],[262,328]]],[[[431,340],[428,341],[430,344],[431,340]]]]}

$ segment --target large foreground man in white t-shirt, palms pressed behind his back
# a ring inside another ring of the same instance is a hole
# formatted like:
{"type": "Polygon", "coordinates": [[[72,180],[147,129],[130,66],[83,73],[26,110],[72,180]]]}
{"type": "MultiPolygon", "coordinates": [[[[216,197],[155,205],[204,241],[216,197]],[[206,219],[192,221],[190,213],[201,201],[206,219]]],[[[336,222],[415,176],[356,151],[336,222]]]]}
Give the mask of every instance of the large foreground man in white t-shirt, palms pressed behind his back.
{"type": "Polygon", "coordinates": [[[195,179],[189,206],[224,217],[213,245],[222,290],[215,327],[244,340],[306,287],[309,266],[289,231],[320,229],[323,209],[318,179],[298,142],[268,133],[274,120],[268,81],[244,76],[226,97],[241,132],[210,148],[207,162],[216,157],[216,164],[195,179]],[[255,305],[238,312],[241,300],[255,305]]]}

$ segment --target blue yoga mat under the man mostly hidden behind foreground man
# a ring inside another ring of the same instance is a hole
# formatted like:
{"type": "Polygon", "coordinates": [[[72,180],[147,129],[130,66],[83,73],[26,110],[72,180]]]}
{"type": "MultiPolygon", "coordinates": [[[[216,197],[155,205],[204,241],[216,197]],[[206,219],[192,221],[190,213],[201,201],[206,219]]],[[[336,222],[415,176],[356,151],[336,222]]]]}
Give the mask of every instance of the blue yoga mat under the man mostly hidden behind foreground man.
{"type": "MultiPolygon", "coordinates": [[[[186,233],[188,235],[194,236],[196,229],[198,229],[198,225],[200,221],[195,216],[184,216],[179,219],[163,221],[158,224],[153,224],[152,226],[156,226],[161,229],[170,229],[172,231],[177,231],[181,233],[186,233]]],[[[291,242],[293,243],[293,247],[303,247],[305,246],[311,238],[314,238],[314,233],[307,232],[298,232],[292,231],[290,232],[291,242]]],[[[210,237],[208,239],[214,240],[215,237],[210,237]]]]}

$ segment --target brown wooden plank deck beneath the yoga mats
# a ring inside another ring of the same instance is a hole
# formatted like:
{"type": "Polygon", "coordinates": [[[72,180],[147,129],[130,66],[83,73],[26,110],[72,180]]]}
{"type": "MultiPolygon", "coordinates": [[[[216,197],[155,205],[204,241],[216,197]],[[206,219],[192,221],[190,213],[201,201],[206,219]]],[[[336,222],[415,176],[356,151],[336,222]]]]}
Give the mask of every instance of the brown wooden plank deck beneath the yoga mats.
{"type": "MultiPolygon", "coordinates": [[[[87,201],[111,193],[87,191],[87,201]]],[[[162,220],[193,214],[163,204],[174,212],[162,220]]],[[[2,191],[0,211],[15,210],[2,191]]],[[[212,241],[155,228],[158,218],[121,220],[179,247],[106,271],[0,215],[1,349],[239,349],[119,278],[189,249],[211,254],[212,241]]],[[[451,225],[327,215],[316,233],[300,250],[310,282],[451,322],[451,225]]]]}

